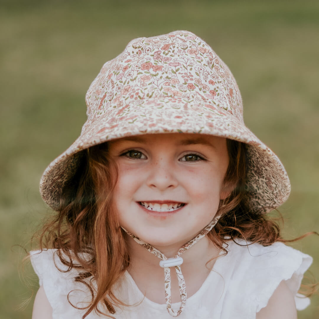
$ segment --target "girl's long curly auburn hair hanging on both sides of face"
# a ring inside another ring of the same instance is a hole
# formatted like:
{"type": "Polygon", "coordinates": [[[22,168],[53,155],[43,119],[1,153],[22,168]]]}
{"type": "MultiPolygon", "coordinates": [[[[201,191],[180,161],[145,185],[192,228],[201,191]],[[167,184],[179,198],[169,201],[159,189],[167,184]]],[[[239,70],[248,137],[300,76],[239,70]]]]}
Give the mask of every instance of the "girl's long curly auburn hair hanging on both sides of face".
{"type": "MultiPolygon", "coordinates": [[[[246,144],[227,139],[227,150],[229,165],[224,183],[236,186],[229,197],[220,201],[217,214],[221,217],[208,234],[209,239],[225,254],[224,244],[229,237],[235,242],[244,239],[264,246],[287,242],[281,238],[276,221],[249,210],[245,204],[246,144]]],[[[112,201],[118,172],[107,143],[93,146],[82,155],[80,167],[63,189],[59,210],[38,233],[38,240],[41,250],[57,249],[56,254],[68,270],[78,268],[75,281],[85,284],[92,295],[91,303],[81,308],[86,309],[82,318],[92,311],[114,318],[115,306],[128,306],[116,298],[113,288],[130,264],[125,233],[112,201]],[[91,257],[84,258],[83,253],[91,257]]]]}

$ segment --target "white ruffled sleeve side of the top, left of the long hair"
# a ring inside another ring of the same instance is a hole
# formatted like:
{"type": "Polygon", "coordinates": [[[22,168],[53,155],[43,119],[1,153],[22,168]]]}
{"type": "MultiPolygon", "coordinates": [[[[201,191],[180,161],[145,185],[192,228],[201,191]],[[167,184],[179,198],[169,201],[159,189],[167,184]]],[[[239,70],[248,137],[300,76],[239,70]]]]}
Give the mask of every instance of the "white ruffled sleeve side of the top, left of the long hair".
{"type": "Polygon", "coordinates": [[[68,267],[61,263],[56,249],[33,250],[30,257],[39,285],[43,286],[53,309],[53,319],[81,318],[84,311],[74,308],[68,301],[69,297],[74,305],[81,308],[91,299],[86,286],[74,280],[78,271],[67,271],[68,267]]]}

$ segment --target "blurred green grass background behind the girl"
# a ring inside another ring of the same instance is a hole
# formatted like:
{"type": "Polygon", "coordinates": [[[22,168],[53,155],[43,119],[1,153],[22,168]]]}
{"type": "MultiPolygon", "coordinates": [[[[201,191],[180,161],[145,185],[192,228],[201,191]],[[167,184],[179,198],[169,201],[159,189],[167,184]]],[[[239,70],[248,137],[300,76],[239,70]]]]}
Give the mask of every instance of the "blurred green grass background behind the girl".
{"type": "MultiPolygon", "coordinates": [[[[284,163],[292,183],[280,211],[287,239],[319,232],[318,1],[0,1],[0,318],[30,318],[19,278],[26,245],[48,212],[42,172],[80,133],[84,95],[102,64],[139,36],[189,30],[232,70],[247,126],[284,163]]],[[[293,244],[314,257],[319,238],[293,244]]],[[[30,249],[27,245],[26,249],[30,249]]],[[[24,278],[37,285],[30,266],[24,278]]],[[[311,277],[308,274],[309,277],[311,277]]],[[[36,288],[35,288],[36,290],[36,288]]],[[[319,317],[319,298],[299,313],[319,317]]]]}

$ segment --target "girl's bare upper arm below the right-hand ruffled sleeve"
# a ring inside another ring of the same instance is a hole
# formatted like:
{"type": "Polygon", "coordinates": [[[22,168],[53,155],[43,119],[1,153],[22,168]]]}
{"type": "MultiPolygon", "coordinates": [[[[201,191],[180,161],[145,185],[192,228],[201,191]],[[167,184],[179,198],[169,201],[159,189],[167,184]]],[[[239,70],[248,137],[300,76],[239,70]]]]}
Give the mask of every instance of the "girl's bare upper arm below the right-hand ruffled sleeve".
{"type": "Polygon", "coordinates": [[[297,309],[293,293],[282,281],[270,297],[266,307],[257,314],[256,319],[297,319],[297,309]]]}

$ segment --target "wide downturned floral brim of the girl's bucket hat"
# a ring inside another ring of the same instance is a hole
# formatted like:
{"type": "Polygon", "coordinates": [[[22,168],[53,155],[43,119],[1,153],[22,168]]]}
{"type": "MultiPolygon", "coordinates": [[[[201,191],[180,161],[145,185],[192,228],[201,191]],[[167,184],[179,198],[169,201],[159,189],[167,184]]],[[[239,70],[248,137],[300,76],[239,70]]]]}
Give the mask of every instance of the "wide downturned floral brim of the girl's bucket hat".
{"type": "Polygon", "coordinates": [[[215,108],[204,101],[180,105],[174,99],[167,99],[165,103],[162,99],[152,99],[148,105],[136,101],[126,109],[127,112],[119,112],[117,117],[95,114],[84,124],[76,141],[47,167],[41,178],[40,193],[52,209],[59,208],[63,187],[75,174],[82,150],[116,138],[156,133],[209,134],[246,143],[245,196],[249,207],[266,213],[288,198],[290,182],[282,163],[230,110],[215,108]],[[134,116],[130,108],[135,110],[134,116]]]}

